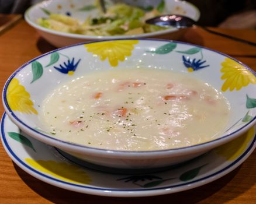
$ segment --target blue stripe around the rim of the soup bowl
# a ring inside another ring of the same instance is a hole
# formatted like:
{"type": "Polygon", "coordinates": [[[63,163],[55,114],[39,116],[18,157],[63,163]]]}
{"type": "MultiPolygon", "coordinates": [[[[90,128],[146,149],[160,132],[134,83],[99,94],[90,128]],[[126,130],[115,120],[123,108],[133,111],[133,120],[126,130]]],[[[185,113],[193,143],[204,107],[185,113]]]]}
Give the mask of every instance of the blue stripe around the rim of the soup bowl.
{"type": "MultiPolygon", "coordinates": [[[[219,51],[215,51],[215,50],[212,50],[210,48],[206,48],[206,47],[203,47],[203,46],[200,46],[200,45],[195,45],[195,44],[191,44],[191,43],[184,43],[184,42],[180,42],[180,41],[175,41],[175,40],[162,40],[162,39],[154,39],[154,38],[122,38],[122,39],[118,39],[118,40],[144,40],[144,41],[162,41],[162,42],[174,42],[174,43],[177,43],[177,44],[185,44],[185,45],[191,45],[193,47],[200,47],[200,48],[203,48],[205,50],[209,50],[209,51],[212,51],[212,52],[216,52],[217,54],[220,54],[220,55],[223,55],[224,57],[228,57],[230,59],[233,59],[234,61],[238,62],[239,64],[243,65],[246,69],[248,69],[248,71],[250,71],[254,76],[256,76],[256,72],[254,72],[250,67],[248,67],[247,65],[243,64],[242,62],[238,61],[237,59],[233,58],[233,57],[230,57],[229,55],[226,55],[222,52],[219,52],[219,51]]],[[[20,68],[18,68],[15,72],[12,73],[12,75],[9,77],[9,79],[7,80],[7,82],[5,83],[5,86],[4,86],[4,91],[3,91],[3,96],[2,98],[4,99],[4,104],[5,106],[7,107],[8,111],[11,112],[12,114],[12,117],[15,118],[20,124],[26,126],[26,128],[30,129],[30,131],[33,131],[33,132],[36,132],[37,134],[41,135],[41,136],[44,136],[44,138],[48,138],[48,139],[51,139],[51,140],[55,140],[57,142],[61,142],[61,143],[65,143],[67,145],[72,145],[72,146],[76,146],[76,147],[84,147],[86,149],[95,149],[95,150],[98,150],[98,151],[102,151],[102,152],[109,152],[109,150],[103,150],[103,149],[98,149],[98,148],[95,148],[95,147],[87,147],[87,146],[82,146],[82,145],[78,145],[78,144],[75,144],[75,143],[71,143],[71,142],[65,142],[63,140],[60,140],[60,139],[56,139],[56,138],[52,138],[51,136],[48,136],[48,135],[45,135],[44,133],[41,133],[39,131],[36,131],[35,129],[31,128],[29,125],[25,124],[24,122],[22,122],[16,115],[15,113],[11,110],[11,108],[9,107],[8,103],[7,103],[7,99],[6,99],[6,93],[7,93],[7,87],[9,86],[9,83],[11,82],[11,80],[14,78],[15,75],[18,74],[18,72],[20,72],[23,68],[25,68],[25,66],[31,64],[33,61],[36,61],[37,59],[40,59],[42,57],[44,57],[45,55],[49,55],[53,52],[56,52],[56,51],[60,51],[60,50],[64,50],[65,48],[70,48],[70,47],[75,47],[75,46],[79,46],[79,45],[84,45],[84,44],[91,44],[91,43],[100,43],[102,41],[113,41],[113,39],[109,39],[109,40],[95,40],[95,41],[89,41],[89,42],[86,42],[86,43],[78,43],[78,44],[74,44],[74,45],[68,45],[66,47],[63,47],[63,48],[58,48],[56,50],[53,50],[53,51],[50,51],[50,52],[46,52],[45,54],[43,55],[40,55],[39,57],[36,57],[32,60],[30,60],[29,62],[27,62],[26,64],[20,66],[20,68]]],[[[250,125],[252,122],[254,122],[254,120],[256,120],[256,115],[255,117],[250,121],[248,122],[247,124],[245,124],[244,126],[242,126],[241,128],[237,129],[237,131],[234,131],[234,132],[231,132],[229,133],[228,135],[224,135],[222,136],[222,138],[217,138],[215,140],[210,140],[209,142],[205,142],[205,143],[200,143],[198,145],[193,145],[193,146],[189,146],[189,147],[180,147],[180,148],[177,148],[177,149],[172,149],[172,150],[155,150],[155,151],[151,151],[152,153],[154,152],[172,152],[173,150],[181,150],[181,149],[188,149],[188,148],[191,148],[191,147],[197,147],[197,146],[202,146],[202,145],[205,145],[205,144],[208,144],[208,143],[212,143],[212,142],[216,142],[218,140],[221,140],[223,138],[227,138],[231,135],[233,135],[234,133],[237,133],[239,131],[241,131],[241,129],[245,128],[246,126],[250,125]]],[[[120,150],[111,150],[110,152],[129,152],[129,153],[133,153],[133,151],[120,151],[120,150]]],[[[144,152],[144,151],[141,151],[140,153],[148,153],[148,152],[144,152]]]]}

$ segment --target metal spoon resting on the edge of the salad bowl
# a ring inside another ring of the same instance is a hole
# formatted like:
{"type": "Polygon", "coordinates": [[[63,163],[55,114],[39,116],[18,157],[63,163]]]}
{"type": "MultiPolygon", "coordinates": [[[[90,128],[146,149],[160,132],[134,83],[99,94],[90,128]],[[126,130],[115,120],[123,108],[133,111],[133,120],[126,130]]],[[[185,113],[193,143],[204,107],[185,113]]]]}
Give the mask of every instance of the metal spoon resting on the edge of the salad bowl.
{"type": "MultiPolygon", "coordinates": [[[[177,29],[185,29],[187,27],[192,27],[192,26],[198,26],[195,22],[195,20],[192,20],[189,17],[182,16],[182,15],[162,15],[162,16],[157,16],[153,17],[152,19],[146,20],[146,23],[148,24],[154,24],[157,26],[162,26],[162,27],[177,27],[177,29]]],[[[232,40],[239,41],[241,43],[246,43],[250,44],[253,46],[256,46],[256,43],[252,43],[251,41],[243,40],[241,38],[229,36],[227,34],[219,33],[217,31],[209,30],[204,26],[200,26],[202,29],[208,31],[209,33],[216,34],[218,36],[226,37],[232,40]]]]}

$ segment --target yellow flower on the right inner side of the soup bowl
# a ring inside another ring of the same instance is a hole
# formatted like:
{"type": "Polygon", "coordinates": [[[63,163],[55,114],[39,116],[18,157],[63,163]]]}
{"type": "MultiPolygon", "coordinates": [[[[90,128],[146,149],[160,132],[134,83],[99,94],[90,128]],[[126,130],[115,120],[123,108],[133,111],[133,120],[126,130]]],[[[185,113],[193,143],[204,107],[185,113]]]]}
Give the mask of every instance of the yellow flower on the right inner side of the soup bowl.
{"type": "Polygon", "coordinates": [[[241,87],[247,86],[249,83],[256,84],[256,77],[233,59],[225,58],[221,65],[222,69],[220,69],[220,72],[223,73],[221,79],[225,80],[222,85],[223,92],[226,92],[228,89],[230,91],[234,89],[240,90],[241,87]]]}

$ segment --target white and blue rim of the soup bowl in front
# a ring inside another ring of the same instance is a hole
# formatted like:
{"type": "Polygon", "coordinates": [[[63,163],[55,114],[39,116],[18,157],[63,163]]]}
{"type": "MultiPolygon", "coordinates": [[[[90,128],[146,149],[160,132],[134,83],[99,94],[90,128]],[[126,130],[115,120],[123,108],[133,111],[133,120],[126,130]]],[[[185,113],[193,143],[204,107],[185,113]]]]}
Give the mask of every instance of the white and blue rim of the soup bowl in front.
{"type": "MultiPolygon", "coordinates": [[[[249,66],[243,64],[243,62],[240,62],[237,59],[235,59],[233,57],[230,57],[229,55],[224,54],[222,52],[215,51],[211,48],[206,48],[206,47],[203,47],[203,46],[200,46],[200,45],[195,45],[195,44],[185,43],[185,42],[175,41],[175,40],[165,40],[165,39],[155,39],[155,38],[126,38],[126,39],[116,39],[116,40],[160,41],[160,42],[168,42],[168,43],[185,44],[185,45],[189,45],[189,46],[193,46],[193,47],[203,48],[205,50],[215,52],[216,54],[223,55],[224,57],[233,59],[234,61],[243,65],[248,71],[250,71],[252,74],[254,74],[254,76],[256,76],[256,72],[254,72],[254,70],[252,70],[249,66]]],[[[150,156],[152,154],[157,154],[157,155],[159,155],[159,154],[170,154],[170,153],[180,154],[181,152],[183,154],[183,153],[186,153],[186,152],[198,152],[198,150],[203,150],[203,149],[207,148],[208,146],[210,146],[210,149],[212,149],[216,146],[219,146],[219,145],[222,145],[226,142],[229,142],[230,140],[236,138],[237,136],[240,136],[242,133],[247,131],[249,128],[251,128],[251,126],[253,126],[256,123],[256,116],[255,116],[253,119],[251,119],[250,122],[247,122],[245,125],[241,126],[240,128],[238,128],[234,132],[231,132],[227,135],[223,135],[220,138],[216,138],[214,140],[210,140],[210,141],[207,141],[207,142],[204,142],[204,143],[199,143],[199,144],[192,145],[192,146],[179,147],[179,148],[175,148],[175,149],[164,149],[164,150],[126,151],[126,150],[100,149],[100,148],[96,148],[96,147],[78,145],[77,143],[67,142],[67,141],[64,141],[64,140],[61,140],[61,139],[53,138],[50,135],[46,135],[46,134],[44,134],[42,132],[39,132],[36,129],[30,127],[29,125],[27,125],[25,122],[23,122],[21,119],[19,119],[19,117],[17,117],[15,115],[15,112],[13,112],[11,110],[11,108],[9,107],[9,105],[8,105],[8,101],[7,101],[7,98],[6,98],[6,93],[7,93],[7,88],[9,86],[9,83],[20,71],[22,71],[22,69],[26,68],[26,66],[31,64],[33,61],[36,61],[37,59],[43,58],[46,55],[50,55],[53,52],[60,51],[60,50],[65,50],[65,49],[72,48],[72,47],[77,47],[77,46],[84,45],[84,44],[99,43],[99,42],[102,42],[102,41],[113,41],[113,40],[111,40],[111,39],[95,40],[95,41],[88,41],[88,42],[78,43],[78,44],[74,44],[74,45],[68,45],[68,46],[62,47],[62,48],[57,48],[56,50],[46,52],[42,55],[39,55],[36,58],[31,59],[30,61],[26,62],[25,64],[20,66],[18,69],[16,69],[16,71],[13,72],[12,75],[9,76],[9,78],[6,80],[5,85],[4,85],[4,89],[2,91],[2,103],[4,104],[4,108],[5,108],[6,113],[12,119],[12,121],[17,126],[19,126],[19,128],[22,129],[25,133],[29,134],[29,136],[32,136],[33,138],[41,140],[42,142],[48,143],[49,145],[56,146],[56,144],[57,144],[56,147],[60,146],[59,147],[60,149],[61,148],[62,149],[67,149],[67,150],[71,150],[71,151],[75,151],[75,152],[95,152],[96,151],[99,155],[103,155],[105,153],[108,153],[108,154],[118,153],[118,154],[120,154],[119,156],[127,156],[127,157],[130,157],[131,154],[137,155],[138,153],[141,154],[141,156],[150,156]]]]}

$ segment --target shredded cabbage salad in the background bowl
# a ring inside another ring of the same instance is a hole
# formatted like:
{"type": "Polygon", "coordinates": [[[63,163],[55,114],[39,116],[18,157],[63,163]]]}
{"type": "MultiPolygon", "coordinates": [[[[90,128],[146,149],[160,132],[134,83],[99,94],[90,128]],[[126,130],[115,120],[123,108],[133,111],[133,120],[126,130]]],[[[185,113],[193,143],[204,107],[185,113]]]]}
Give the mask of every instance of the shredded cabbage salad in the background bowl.
{"type": "Polygon", "coordinates": [[[37,19],[40,26],[66,33],[84,34],[88,36],[116,36],[150,33],[166,28],[146,24],[145,20],[161,15],[159,10],[145,10],[124,3],[110,5],[107,13],[99,17],[87,17],[81,22],[74,17],[50,13],[49,18],[37,19]]]}

